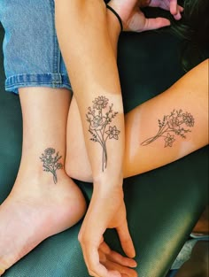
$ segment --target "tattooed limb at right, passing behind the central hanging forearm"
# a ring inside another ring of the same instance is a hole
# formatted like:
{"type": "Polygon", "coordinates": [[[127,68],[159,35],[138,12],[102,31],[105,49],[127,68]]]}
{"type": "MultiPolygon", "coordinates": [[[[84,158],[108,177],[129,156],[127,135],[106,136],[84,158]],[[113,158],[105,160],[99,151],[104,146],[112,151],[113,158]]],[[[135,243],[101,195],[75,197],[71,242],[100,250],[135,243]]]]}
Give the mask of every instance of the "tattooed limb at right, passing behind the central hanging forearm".
{"type": "MultiPolygon", "coordinates": [[[[124,177],[169,164],[208,143],[207,84],[205,60],[166,92],[128,112],[124,177]]],[[[66,173],[92,181],[74,98],[67,125],[66,173]]]]}

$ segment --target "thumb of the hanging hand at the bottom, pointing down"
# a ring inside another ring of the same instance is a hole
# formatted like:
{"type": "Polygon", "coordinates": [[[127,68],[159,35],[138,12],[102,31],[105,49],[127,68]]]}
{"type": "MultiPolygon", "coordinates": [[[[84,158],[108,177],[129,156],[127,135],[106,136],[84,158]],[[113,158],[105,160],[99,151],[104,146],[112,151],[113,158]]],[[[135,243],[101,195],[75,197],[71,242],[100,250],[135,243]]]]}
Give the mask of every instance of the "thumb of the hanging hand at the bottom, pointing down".
{"type": "Polygon", "coordinates": [[[126,253],[126,255],[129,258],[134,258],[135,257],[135,247],[134,243],[132,241],[131,235],[128,230],[128,223],[127,221],[122,224],[120,227],[116,228],[119,238],[120,238],[120,243],[122,246],[122,249],[126,253]]]}

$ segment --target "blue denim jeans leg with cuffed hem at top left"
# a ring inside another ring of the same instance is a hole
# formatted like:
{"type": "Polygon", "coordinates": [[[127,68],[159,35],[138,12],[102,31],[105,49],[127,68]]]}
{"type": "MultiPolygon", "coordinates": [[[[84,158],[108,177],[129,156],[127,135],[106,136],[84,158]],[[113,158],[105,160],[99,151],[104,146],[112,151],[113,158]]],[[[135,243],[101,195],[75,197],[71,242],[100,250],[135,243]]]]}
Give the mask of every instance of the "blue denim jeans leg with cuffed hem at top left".
{"type": "Polygon", "coordinates": [[[54,0],[0,0],[5,89],[71,88],[55,30],[54,0]]]}

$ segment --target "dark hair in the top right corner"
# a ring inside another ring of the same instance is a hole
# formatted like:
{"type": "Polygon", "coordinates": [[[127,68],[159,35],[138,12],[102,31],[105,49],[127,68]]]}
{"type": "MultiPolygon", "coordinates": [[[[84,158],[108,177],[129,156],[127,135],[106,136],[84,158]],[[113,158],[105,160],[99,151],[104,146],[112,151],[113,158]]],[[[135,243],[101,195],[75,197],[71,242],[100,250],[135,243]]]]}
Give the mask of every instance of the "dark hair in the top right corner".
{"type": "Polygon", "coordinates": [[[188,71],[209,57],[209,1],[184,0],[179,4],[184,7],[182,19],[173,20],[171,29],[185,41],[182,66],[188,71]]]}

